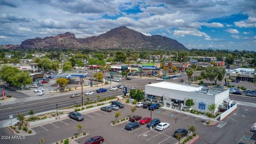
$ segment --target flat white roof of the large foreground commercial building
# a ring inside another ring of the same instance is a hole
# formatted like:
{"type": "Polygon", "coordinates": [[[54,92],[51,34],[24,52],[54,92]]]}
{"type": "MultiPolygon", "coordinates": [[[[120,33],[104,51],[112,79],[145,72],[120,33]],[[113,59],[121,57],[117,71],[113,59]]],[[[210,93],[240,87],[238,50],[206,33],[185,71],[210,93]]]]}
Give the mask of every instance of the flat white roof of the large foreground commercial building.
{"type": "Polygon", "coordinates": [[[209,94],[209,95],[216,95],[223,91],[226,91],[225,89],[219,89],[214,87],[188,85],[188,84],[172,83],[172,82],[159,82],[154,84],[148,84],[147,86],[159,87],[159,88],[169,89],[169,90],[178,90],[178,91],[184,91],[184,92],[209,94]]]}

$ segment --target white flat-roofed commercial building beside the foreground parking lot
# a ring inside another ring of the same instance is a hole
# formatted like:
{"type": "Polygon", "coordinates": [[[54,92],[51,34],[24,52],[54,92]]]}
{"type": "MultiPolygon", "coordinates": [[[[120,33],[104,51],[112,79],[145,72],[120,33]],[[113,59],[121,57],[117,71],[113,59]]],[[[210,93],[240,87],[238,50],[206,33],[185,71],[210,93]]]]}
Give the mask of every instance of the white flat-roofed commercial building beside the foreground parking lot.
{"type": "Polygon", "coordinates": [[[233,106],[233,101],[229,99],[229,90],[181,83],[160,82],[145,85],[145,97],[163,97],[165,107],[180,110],[185,107],[187,99],[193,99],[195,105],[192,109],[204,112],[210,112],[207,107],[212,103],[223,110],[233,106]]]}

